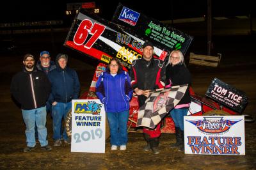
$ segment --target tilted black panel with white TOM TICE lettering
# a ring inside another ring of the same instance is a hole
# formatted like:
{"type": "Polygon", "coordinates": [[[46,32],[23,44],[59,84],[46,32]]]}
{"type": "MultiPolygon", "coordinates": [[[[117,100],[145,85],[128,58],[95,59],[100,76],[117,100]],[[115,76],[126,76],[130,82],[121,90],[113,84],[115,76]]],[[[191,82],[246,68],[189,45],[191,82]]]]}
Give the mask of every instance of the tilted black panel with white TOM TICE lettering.
{"type": "Polygon", "coordinates": [[[213,79],[205,95],[240,113],[244,111],[248,102],[248,98],[243,91],[217,78],[213,79]]]}

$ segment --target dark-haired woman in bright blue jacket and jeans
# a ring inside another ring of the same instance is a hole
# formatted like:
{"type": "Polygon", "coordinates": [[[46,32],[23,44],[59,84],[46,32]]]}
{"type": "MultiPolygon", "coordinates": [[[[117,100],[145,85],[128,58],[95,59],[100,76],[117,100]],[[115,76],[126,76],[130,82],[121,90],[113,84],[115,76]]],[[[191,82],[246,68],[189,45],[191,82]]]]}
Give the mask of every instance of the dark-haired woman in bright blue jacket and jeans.
{"type": "Polygon", "coordinates": [[[108,116],[111,150],[117,150],[118,146],[120,150],[126,150],[129,101],[132,92],[128,73],[122,70],[118,59],[111,59],[106,72],[101,73],[96,84],[96,94],[104,104],[108,116]]]}

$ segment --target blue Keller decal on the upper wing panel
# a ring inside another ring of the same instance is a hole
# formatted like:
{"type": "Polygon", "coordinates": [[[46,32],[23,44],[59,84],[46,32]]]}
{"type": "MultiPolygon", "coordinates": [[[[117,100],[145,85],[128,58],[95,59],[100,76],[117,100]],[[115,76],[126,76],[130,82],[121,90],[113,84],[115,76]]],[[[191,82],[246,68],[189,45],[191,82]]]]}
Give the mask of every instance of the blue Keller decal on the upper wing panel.
{"type": "Polygon", "coordinates": [[[126,22],[127,24],[130,24],[131,26],[135,26],[139,17],[140,17],[140,13],[135,12],[124,6],[118,19],[126,22]]]}

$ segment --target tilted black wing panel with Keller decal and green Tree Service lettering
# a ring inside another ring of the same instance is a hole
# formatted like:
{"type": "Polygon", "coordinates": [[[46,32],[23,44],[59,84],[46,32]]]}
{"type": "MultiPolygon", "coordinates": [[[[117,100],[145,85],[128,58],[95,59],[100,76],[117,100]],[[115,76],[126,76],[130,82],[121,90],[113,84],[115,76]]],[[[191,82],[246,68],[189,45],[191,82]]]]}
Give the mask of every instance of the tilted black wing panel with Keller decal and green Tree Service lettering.
{"type": "MultiPolygon", "coordinates": [[[[154,10],[152,11],[154,15],[154,10]]],[[[116,8],[112,22],[124,27],[129,27],[129,31],[132,35],[140,35],[143,40],[153,42],[156,47],[160,49],[166,51],[180,50],[184,56],[193,40],[193,36],[189,36],[156,19],[151,19],[142,13],[127,8],[121,3],[119,3],[116,8]]]]}

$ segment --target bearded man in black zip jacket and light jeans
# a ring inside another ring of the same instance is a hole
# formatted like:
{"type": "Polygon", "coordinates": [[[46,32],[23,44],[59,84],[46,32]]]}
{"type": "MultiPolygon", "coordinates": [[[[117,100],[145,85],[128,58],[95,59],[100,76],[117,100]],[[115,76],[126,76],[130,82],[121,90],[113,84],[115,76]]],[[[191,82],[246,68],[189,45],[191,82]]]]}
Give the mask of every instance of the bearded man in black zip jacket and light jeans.
{"type": "Polygon", "coordinates": [[[51,93],[51,83],[44,72],[36,70],[35,59],[31,54],[23,58],[24,68],[12,78],[11,93],[20,103],[22,117],[26,124],[26,143],[24,152],[35,149],[35,125],[42,150],[51,150],[47,141],[46,107],[51,93]]]}

